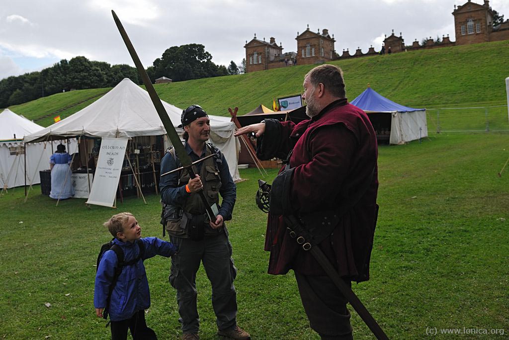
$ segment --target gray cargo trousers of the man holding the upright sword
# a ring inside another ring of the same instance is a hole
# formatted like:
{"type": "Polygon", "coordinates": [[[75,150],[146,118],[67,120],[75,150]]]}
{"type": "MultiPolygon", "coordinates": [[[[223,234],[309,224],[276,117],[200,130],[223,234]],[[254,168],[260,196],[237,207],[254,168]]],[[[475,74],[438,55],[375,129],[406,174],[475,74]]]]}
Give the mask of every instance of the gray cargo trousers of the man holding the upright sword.
{"type": "Polygon", "coordinates": [[[169,283],[177,290],[179,322],[182,332],[197,333],[200,319],[196,307],[196,272],[203,262],[205,272],[212,285],[212,307],[219,330],[237,326],[237,292],[233,281],[237,276],[232,259],[232,245],[224,232],[205,237],[201,241],[170,236],[177,246],[172,257],[169,283]]]}

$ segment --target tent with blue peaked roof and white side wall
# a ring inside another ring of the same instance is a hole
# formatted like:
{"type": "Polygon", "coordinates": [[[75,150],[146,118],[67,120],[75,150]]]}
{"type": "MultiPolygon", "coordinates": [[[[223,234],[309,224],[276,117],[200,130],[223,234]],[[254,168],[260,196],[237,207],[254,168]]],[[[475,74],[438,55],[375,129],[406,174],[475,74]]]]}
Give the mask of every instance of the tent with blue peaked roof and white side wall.
{"type": "Polygon", "coordinates": [[[366,112],[380,142],[404,144],[428,136],[426,109],[403,106],[367,88],[351,103],[366,112]]]}

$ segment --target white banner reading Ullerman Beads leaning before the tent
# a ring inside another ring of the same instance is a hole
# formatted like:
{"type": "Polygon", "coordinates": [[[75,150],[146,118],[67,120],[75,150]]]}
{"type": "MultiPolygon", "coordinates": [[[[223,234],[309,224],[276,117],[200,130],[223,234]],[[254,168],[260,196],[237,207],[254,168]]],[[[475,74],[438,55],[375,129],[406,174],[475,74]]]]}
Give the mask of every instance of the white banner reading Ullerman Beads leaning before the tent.
{"type": "Polygon", "coordinates": [[[127,140],[125,138],[102,138],[94,183],[86,204],[114,206],[127,140]]]}

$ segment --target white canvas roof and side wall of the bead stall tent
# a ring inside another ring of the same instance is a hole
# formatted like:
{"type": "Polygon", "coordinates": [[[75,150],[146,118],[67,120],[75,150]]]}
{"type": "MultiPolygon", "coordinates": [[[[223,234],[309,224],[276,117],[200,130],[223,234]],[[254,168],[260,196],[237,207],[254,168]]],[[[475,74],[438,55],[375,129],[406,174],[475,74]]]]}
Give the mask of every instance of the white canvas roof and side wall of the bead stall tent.
{"type": "MultiPolygon", "coordinates": [[[[165,101],[161,102],[173,125],[178,126],[182,109],[165,101]]],[[[233,180],[238,181],[240,175],[237,158],[240,144],[233,135],[235,124],[227,117],[209,116],[209,118],[210,140],[223,152],[230,166],[233,180]]],[[[177,132],[183,133],[183,130],[177,128],[177,132]]],[[[60,122],[26,136],[24,141],[41,141],[48,135],[129,138],[164,134],[166,130],[162,126],[148,92],[125,78],[94,103],[60,122]]]]}

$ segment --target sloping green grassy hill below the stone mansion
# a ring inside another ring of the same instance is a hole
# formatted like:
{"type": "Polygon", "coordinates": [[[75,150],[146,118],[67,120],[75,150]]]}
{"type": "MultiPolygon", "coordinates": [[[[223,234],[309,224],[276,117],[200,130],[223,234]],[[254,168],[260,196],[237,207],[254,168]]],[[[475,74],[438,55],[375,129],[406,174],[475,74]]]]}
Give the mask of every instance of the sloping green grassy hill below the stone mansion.
{"type": "MultiPolygon", "coordinates": [[[[507,41],[501,41],[374,55],[332,64],[345,72],[349,99],[358,96],[369,83],[381,95],[414,107],[505,104],[508,47],[507,41]]],[[[229,116],[228,108],[238,106],[239,114],[244,114],[259,104],[271,107],[273,98],[301,92],[303,77],[313,66],[158,84],[155,88],[161,99],[178,107],[199,103],[213,115],[229,116]]],[[[60,93],[11,109],[37,119],[86,100],[58,113],[65,118],[100,97],[89,98],[108,90],[60,93]]],[[[53,122],[52,117],[37,123],[48,126],[53,122]]]]}

